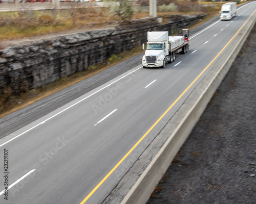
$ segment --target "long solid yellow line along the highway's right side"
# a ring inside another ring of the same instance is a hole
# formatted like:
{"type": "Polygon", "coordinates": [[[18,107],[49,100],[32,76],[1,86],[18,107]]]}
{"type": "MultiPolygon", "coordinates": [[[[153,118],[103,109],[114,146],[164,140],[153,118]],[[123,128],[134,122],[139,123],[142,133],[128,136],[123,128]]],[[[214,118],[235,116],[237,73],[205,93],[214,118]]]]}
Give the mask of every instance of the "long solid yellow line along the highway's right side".
{"type": "MultiPolygon", "coordinates": [[[[254,10],[255,12],[256,10],[254,10]]],[[[182,92],[182,94],[174,101],[174,103],[163,113],[163,115],[158,118],[158,120],[148,129],[148,131],[139,139],[139,141],[126,153],[126,155],[114,166],[111,171],[105,175],[105,177],[98,183],[98,185],[84,198],[80,204],[84,204],[92,195],[93,193],[108,179],[108,177],[117,169],[117,167],[131,154],[131,152],[139,145],[139,143],[150,133],[153,128],[158,124],[158,122],[169,112],[170,109],[178,102],[178,100],[187,92],[187,90],[201,77],[201,75],[206,71],[206,69],[220,56],[223,50],[227,47],[227,45],[233,40],[234,37],[241,31],[244,25],[247,23],[249,18],[254,14],[254,12],[248,17],[248,19],[244,22],[242,27],[238,30],[238,32],[228,41],[228,43],[223,47],[221,52],[204,68],[204,70],[198,75],[198,77],[182,92]]]]}

